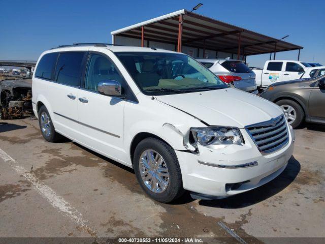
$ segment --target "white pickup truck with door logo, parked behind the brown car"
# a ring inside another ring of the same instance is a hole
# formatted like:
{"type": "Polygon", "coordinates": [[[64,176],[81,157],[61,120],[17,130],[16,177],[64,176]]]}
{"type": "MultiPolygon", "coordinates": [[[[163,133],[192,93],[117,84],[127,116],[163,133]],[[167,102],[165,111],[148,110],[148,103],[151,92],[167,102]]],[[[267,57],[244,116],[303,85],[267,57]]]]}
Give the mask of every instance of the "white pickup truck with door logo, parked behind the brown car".
{"type": "Polygon", "coordinates": [[[306,67],[311,66],[296,60],[268,60],[264,68],[252,68],[252,71],[256,74],[257,87],[266,88],[275,82],[299,79],[306,67]]]}

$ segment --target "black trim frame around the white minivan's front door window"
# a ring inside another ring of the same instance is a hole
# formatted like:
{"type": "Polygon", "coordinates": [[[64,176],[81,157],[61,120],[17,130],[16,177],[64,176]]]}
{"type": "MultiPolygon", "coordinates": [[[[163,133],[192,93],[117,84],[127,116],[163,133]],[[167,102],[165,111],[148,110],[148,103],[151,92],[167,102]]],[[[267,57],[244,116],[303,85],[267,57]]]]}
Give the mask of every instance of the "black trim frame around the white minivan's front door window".
{"type": "Polygon", "coordinates": [[[123,100],[123,101],[133,102],[133,103],[137,103],[137,104],[139,103],[136,95],[134,94],[131,87],[128,85],[126,79],[124,78],[124,76],[122,75],[122,73],[118,69],[117,65],[114,63],[114,61],[106,53],[99,52],[99,51],[87,51],[86,58],[85,58],[84,69],[83,69],[83,72],[81,73],[81,81],[80,81],[79,89],[86,90],[87,92],[91,92],[91,93],[95,93],[95,94],[100,94],[102,96],[106,96],[106,97],[110,97],[110,98],[120,99],[120,100],[123,100]],[[99,92],[96,92],[95,90],[90,90],[90,89],[85,88],[86,73],[87,73],[87,69],[88,69],[91,54],[102,55],[102,56],[106,57],[115,66],[117,73],[122,77],[122,79],[124,80],[124,83],[126,85],[126,87],[123,87],[123,89],[124,90],[127,89],[127,91],[129,92],[129,94],[131,96],[129,96],[128,98],[119,98],[119,97],[115,97],[115,96],[108,96],[108,95],[100,94],[99,92]]]}

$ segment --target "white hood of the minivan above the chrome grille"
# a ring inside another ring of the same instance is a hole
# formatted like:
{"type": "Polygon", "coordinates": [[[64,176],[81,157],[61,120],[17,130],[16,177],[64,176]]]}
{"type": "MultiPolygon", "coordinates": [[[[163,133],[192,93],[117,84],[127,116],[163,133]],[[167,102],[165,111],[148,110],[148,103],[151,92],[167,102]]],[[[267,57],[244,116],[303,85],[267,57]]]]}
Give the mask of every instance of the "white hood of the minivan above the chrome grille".
{"type": "Polygon", "coordinates": [[[235,88],[157,96],[156,99],[210,126],[244,128],[283,113],[277,105],[235,88]]]}

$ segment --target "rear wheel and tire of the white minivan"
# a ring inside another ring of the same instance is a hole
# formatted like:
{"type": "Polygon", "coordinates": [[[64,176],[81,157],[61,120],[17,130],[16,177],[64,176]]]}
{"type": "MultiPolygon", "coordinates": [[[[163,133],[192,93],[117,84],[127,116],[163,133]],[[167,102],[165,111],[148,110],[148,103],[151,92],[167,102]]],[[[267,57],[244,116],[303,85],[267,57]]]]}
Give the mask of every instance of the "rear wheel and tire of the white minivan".
{"type": "Polygon", "coordinates": [[[42,106],[39,110],[39,125],[44,139],[48,142],[56,142],[62,138],[55,131],[52,119],[45,106],[42,106]]]}

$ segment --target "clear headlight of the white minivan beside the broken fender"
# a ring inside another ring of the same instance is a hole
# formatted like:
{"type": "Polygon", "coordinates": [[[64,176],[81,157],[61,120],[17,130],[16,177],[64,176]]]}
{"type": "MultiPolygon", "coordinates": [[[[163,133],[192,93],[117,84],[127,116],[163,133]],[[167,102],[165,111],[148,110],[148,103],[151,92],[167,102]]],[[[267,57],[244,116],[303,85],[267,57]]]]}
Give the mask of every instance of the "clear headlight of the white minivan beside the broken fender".
{"type": "Polygon", "coordinates": [[[198,147],[198,144],[212,147],[213,145],[240,145],[243,142],[239,129],[234,127],[199,127],[190,128],[190,131],[194,140],[192,145],[195,147],[198,147]]]}

